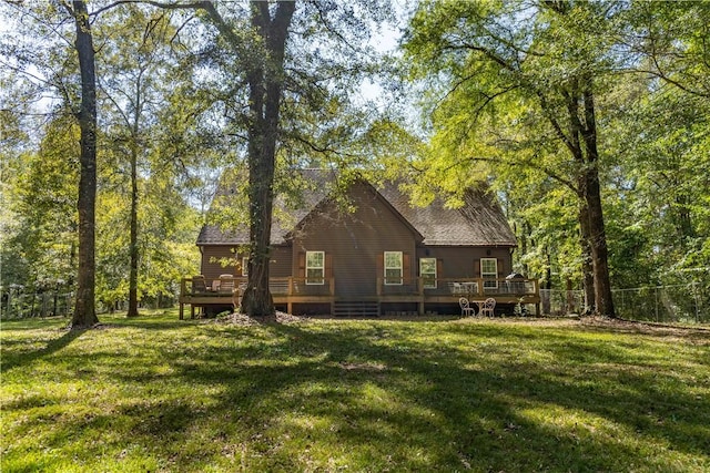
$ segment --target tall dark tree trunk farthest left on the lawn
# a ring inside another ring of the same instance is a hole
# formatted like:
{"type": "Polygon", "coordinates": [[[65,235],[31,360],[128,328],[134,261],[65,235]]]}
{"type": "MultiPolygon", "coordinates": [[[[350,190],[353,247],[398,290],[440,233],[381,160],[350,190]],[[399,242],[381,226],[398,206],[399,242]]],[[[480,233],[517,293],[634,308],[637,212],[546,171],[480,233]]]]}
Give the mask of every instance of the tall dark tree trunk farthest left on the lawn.
{"type": "Polygon", "coordinates": [[[74,47],[81,70],[81,175],[79,179],[79,277],[72,328],[99,322],[95,308],[95,205],[97,205],[97,76],[89,12],[83,0],[73,1],[77,25],[74,47]]]}

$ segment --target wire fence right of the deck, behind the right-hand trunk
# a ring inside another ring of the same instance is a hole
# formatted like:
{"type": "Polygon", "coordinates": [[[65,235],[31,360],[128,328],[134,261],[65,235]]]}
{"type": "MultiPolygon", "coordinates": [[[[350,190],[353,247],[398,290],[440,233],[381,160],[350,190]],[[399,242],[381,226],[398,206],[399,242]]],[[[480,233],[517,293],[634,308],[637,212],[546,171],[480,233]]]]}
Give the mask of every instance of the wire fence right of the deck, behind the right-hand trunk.
{"type": "MultiPolygon", "coordinates": [[[[617,317],[656,322],[710,322],[710,291],[700,284],[612,289],[617,317]]],[[[544,315],[565,316],[585,310],[581,290],[541,289],[544,315]]]]}

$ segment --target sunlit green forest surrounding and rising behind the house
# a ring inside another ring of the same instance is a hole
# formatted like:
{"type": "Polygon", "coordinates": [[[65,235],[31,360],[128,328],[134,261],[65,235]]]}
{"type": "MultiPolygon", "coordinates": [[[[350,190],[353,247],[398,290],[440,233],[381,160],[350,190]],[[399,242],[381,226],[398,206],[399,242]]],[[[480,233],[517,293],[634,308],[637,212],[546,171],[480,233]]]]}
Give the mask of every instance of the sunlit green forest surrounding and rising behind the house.
{"type": "MultiPolygon", "coordinates": [[[[131,291],[174,302],[202,224],[248,220],[246,194],[207,209],[223,171],[250,166],[254,64],[282,86],[273,182],[293,198],[303,166],[400,178],[420,205],[485,181],[516,269],[544,287],[594,286],[601,235],[610,287],[708,297],[710,4],[304,0],[275,70],[255,19],[274,24],[282,3],[90,4],[99,310],[131,291]],[[393,30],[398,47],[378,48],[393,30]],[[590,175],[598,235],[581,217],[590,175]]],[[[3,300],[71,294],[81,273],[81,4],[0,6],[3,300]]]]}

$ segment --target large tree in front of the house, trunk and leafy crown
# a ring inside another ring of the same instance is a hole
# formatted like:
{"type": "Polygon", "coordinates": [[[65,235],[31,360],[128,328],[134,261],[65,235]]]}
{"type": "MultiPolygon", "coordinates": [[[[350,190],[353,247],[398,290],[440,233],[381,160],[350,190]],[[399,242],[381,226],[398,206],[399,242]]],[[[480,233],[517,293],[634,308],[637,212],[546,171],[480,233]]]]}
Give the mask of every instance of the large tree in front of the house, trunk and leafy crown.
{"type": "Polygon", "coordinates": [[[240,145],[245,147],[248,166],[250,276],[242,309],[250,316],[273,316],[268,261],[277,158],[281,153],[300,160],[294,151],[303,148],[337,155],[329,146],[333,143],[321,141],[333,136],[324,128],[338,127],[334,115],[345,109],[347,91],[354,86],[352,78],[372,71],[357,42],[367,38],[369,18],[385,9],[378,2],[346,6],[332,1],[252,1],[245,9],[220,4],[222,11],[209,1],[150,3],[202,11],[220,34],[211,58],[229,78],[224,109],[233,114],[230,130],[245,135],[240,145]],[[324,44],[328,48],[322,48],[324,44]],[[224,56],[225,49],[231,55],[224,56]],[[328,119],[315,122],[315,135],[287,133],[297,127],[284,120],[284,106],[288,117],[321,114],[328,119]]]}

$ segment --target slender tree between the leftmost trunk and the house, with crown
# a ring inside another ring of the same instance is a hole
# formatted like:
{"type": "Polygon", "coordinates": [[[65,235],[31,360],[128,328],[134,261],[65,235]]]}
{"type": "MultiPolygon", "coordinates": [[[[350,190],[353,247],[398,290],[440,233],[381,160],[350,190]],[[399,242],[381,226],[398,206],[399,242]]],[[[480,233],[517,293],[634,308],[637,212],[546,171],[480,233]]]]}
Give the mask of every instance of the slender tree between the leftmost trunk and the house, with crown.
{"type": "MultiPolygon", "coordinates": [[[[175,34],[165,14],[150,16],[135,4],[112,9],[102,16],[105,42],[100,61],[106,97],[103,128],[110,147],[129,163],[129,308],[139,315],[139,166],[151,176],[149,154],[156,145],[151,131],[156,128],[161,106],[166,104],[162,83],[169,70],[168,40],[175,34]]],[[[120,161],[119,161],[120,162],[120,161]]],[[[150,177],[149,177],[150,178],[150,177]]]]}

